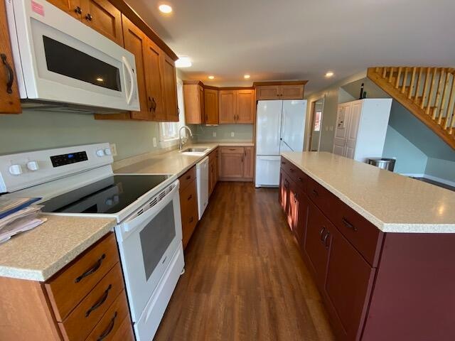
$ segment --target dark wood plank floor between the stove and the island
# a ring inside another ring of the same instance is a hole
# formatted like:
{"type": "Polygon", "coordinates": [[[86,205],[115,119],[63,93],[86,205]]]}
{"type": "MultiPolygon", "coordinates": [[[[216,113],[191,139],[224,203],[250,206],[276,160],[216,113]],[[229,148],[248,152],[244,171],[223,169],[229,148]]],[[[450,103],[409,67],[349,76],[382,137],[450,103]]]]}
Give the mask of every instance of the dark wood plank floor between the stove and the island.
{"type": "Polygon", "coordinates": [[[277,189],[218,183],[154,340],[334,340],[277,189]]]}

